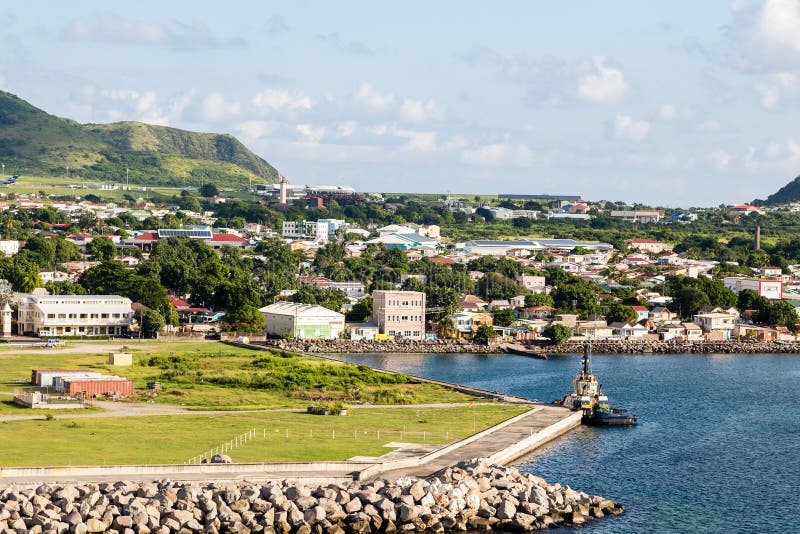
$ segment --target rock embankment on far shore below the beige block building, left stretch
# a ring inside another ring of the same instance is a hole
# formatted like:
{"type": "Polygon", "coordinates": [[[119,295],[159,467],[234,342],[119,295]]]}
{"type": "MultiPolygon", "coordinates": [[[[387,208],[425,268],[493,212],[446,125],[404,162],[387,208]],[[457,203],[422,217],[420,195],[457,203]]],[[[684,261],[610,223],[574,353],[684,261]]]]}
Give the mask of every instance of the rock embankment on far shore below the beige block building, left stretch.
{"type": "Polygon", "coordinates": [[[373,353],[373,352],[440,352],[440,353],[496,353],[497,347],[471,343],[465,339],[439,339],[435,341],[402,340],[349,340],[349,339],[268,339],[267,347],[292,352],[321,354],[373,353]]]}

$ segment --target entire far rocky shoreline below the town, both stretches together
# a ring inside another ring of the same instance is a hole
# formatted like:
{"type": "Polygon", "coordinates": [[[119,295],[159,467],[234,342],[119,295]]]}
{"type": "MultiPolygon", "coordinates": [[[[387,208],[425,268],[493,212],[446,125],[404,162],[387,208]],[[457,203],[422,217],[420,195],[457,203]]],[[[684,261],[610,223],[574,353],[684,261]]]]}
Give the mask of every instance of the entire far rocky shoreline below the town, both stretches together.
{"type": "MultiPolygon", "coordinates": [[[[312,354],[346,353],[482,353],[501,352],[495,345],[481,345],[464,339],[436,341],[351,341],[345,339],[271,339],[264,346],[290,352],[312,354]]],[[[568,341],[561,345],[530,342],[527,348],[544,354],[581,354],[583,341],[568,341]]],[[[796,354],[800,342],[792,341],[592,341],[596,354],[796,354]]]]}

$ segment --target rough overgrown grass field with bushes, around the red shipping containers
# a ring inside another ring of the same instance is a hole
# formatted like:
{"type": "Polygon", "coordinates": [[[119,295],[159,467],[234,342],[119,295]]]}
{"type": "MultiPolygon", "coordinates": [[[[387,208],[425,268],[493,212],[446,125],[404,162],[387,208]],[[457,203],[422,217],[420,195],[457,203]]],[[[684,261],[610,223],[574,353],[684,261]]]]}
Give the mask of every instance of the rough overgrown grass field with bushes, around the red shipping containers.
{"type": "MultiPolygon", "coordinates": [[[[92,342],[94,346],[104,346],[92,342]]],[[[79,347],[78,343],[68,345],[79,347]]],[[[107,343],[109,350],[120,343],[107,343]]],[[[94,354],[59,351],[0,350],[0,391],[11,392],[30,379],[31,369],[86,369],[125,376],[144,393],[160,381],[157,403],[194,409],[236,410],[296,407],[315,400],[361,400],[377,404],[469,402],[473,397],[425,383],[395,383],[391,377],[305,356],[277,356],[223,343],[131,344],[131,367],[106,364],[106,351],[94,354]]],[[[137,400],[147,400],[140,397],[137,400]]]]}

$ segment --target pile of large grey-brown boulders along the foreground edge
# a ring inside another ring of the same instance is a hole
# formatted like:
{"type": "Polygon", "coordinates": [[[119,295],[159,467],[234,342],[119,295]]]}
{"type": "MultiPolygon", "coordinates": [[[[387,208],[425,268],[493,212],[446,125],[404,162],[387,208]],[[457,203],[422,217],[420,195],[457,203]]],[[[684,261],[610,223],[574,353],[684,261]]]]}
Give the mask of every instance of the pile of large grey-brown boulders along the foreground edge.
{"type": "Polygon", "coordinates": [[[0,532],[120,534],[530,531],[622,506],[514,468],[469,460],[428,479],[317,487],[116,482],[0,491],[0,532]]]}

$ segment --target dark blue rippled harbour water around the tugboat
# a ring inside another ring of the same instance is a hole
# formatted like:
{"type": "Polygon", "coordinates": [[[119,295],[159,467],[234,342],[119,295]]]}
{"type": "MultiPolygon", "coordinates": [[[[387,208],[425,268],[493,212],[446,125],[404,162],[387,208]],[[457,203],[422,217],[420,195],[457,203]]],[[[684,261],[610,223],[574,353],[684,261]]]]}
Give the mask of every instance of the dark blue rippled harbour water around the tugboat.
{"type": "MultiPolygon", "coordinates": [[[[544,401],[561,398],[580,366],[580,356],[344,359],[544,401]]],[[[577,531],[800,532],[800,357],[596,355],[592,367],[639,424],[581,427],[516,462],[626,508],[577,531]]]]}

